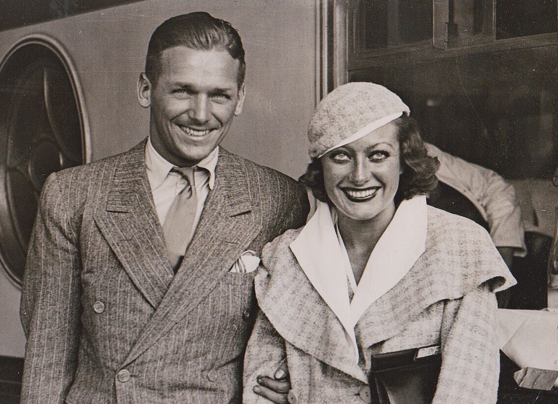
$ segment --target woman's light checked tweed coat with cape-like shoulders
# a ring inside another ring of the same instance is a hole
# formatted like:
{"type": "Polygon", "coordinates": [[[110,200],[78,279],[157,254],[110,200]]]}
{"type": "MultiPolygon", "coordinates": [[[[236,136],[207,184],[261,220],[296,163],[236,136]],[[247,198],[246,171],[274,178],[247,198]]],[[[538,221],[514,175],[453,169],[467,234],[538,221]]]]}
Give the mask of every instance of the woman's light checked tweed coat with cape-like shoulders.
{"type": "Polygon", "coordinates": [[[255,379],[273,374],[286,357],[297,402],[362,404],[369,401],[372,353],[434,344],[442,353],[434,404],[496,402],[494,292],[515,281],[483,228],[428,207],[425,252],[355,327],[358,364],[343,326],[289,248],[299,233],[289,230],[263,251],[256,276],[261,312],[244,362],[244,403],[267,402],[252,393],[255,379]]]}

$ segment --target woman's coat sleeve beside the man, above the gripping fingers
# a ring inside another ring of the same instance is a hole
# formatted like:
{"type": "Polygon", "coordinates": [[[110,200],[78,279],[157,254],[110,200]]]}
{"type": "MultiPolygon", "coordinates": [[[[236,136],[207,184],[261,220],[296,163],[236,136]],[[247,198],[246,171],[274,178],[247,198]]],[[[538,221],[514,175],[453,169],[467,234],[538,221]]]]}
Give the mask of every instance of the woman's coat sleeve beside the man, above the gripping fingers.
{"type": "Polygon", "coordinates": [[[254,392],[254,387],[261,389],[257,378],[273,378],[285,361],[285,340],[273,328],[266,315],[259,311],[244,355],[244,404],[273,402],[259,396],[254,392]]]}

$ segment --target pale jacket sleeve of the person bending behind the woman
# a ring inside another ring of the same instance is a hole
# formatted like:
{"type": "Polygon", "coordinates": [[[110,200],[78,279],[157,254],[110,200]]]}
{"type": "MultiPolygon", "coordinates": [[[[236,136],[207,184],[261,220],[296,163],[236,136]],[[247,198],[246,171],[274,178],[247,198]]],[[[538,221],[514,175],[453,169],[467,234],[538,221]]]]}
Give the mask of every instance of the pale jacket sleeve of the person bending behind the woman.
{"type": "Polygon", "coordinates": [[[513,247],[515,256],[525,257],[521,210],[513,185],[492,170],[445,153],[430,143],[425,145],[429,155],[440,161],[438,179],[475,205],[487,221],[496,247],[513,247]]]}

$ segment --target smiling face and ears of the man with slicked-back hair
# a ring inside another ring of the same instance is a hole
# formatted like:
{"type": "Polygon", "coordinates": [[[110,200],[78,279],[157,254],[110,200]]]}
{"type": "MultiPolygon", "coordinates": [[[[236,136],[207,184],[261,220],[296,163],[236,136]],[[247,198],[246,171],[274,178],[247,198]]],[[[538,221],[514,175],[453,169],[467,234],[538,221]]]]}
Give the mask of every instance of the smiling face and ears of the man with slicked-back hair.
{"type": "Polygon", "coordinates": [[[193,166],[223,140],[244,102],[240,62],[222,49],[176,46],[162,52],[155,83],[138,81],[142,107],[151,107],[153,147],[176,166],[193,166]]]}

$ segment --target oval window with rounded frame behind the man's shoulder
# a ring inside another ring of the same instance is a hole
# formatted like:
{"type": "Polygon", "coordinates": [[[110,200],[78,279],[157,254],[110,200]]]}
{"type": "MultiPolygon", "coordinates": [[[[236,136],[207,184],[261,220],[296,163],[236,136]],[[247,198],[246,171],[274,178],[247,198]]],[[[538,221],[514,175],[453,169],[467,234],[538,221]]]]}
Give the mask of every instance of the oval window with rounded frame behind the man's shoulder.
{"type": "Polygon", "coordinates": [[[0,64],[0,264],[17,283],[47,176],[85,159],[76,85],[41,40],[16,45],[0,64]]]}

